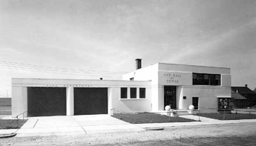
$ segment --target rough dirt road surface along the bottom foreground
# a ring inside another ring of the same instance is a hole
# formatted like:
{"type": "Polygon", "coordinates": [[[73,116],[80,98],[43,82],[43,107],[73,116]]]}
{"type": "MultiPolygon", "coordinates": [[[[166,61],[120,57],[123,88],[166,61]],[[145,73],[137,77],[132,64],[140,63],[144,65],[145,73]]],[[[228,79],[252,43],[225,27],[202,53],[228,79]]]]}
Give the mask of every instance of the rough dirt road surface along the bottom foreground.
{"type": "Polygon", "coordinates": [[[13,137],[0,145],[254,145],[256,122],[167,127],[162,131],[13,137]]]}

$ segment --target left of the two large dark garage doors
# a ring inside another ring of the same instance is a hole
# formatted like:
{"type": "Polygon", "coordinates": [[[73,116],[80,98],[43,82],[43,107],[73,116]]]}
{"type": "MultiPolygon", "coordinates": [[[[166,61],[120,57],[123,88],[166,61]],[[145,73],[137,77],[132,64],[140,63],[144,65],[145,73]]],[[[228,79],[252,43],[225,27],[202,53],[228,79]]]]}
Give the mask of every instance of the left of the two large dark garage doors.
{"type": "Polygon", "coordinates": [[[66,115],[66,87],[27,87],[28,116],[66,115]]]}

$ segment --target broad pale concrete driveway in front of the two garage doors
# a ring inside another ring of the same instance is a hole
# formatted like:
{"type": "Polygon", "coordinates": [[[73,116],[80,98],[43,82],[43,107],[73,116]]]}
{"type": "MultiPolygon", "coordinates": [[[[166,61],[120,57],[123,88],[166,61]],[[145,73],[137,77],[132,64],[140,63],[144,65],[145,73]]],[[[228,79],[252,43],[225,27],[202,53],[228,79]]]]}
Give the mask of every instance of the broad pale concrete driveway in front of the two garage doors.
{"type": "Polygon", "coordinates": [[[48,136],[141,130],[136,125],[103,114],[32,117],[16,133],[17,136],[48,136]]]}

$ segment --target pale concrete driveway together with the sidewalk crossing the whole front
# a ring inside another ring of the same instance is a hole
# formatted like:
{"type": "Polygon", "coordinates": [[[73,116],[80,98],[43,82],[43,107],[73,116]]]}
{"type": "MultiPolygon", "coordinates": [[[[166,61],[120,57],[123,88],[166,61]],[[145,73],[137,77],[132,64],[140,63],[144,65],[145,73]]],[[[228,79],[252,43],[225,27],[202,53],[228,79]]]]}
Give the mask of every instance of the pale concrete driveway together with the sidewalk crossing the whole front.
{"type": "MultiPolygon", "coordinates": [[[[199,116],[181,115],[182,118],[199,120],[199,116]]],[[[145,131],[147,128],[231,124],[240,122],[256,122],[249,120],[215,120],[200,117],[201,121],[195,122],[166,122],[154,124],[130,124],[115,119],[110,115],[75,115],[75,116],[38,116],[30,118],[19,130],[0,130],[0,134],[18,133],[24,136],[50,136],[50,135],[86,135],[93,133],[106,133],[118,131],[145,131]]]]}

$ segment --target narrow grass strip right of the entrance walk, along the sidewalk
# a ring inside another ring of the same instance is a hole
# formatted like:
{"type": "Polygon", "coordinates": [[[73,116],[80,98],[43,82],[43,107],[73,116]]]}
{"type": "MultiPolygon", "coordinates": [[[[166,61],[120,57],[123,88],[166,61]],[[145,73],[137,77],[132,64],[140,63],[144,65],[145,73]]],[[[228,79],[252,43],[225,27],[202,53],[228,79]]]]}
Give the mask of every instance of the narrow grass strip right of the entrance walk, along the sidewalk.
{"type": "MultiPolygon", "coordinates": [[[[197,114],[198,115],[198,114],[197,114]]],[[[211,118],[211,119],[217,119],[217,120],[223,120],[224,114],[218,114],[218,113],[203,113],[200,114],[200,116],[211,118]]],[[[242,120],[242,119],[256,119],[256,114],[233,114],[233,113],[225,113],[225,120],[242,120]]]]}

